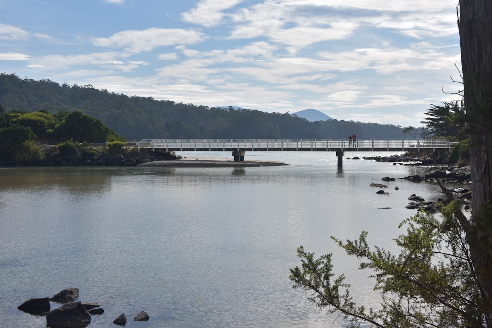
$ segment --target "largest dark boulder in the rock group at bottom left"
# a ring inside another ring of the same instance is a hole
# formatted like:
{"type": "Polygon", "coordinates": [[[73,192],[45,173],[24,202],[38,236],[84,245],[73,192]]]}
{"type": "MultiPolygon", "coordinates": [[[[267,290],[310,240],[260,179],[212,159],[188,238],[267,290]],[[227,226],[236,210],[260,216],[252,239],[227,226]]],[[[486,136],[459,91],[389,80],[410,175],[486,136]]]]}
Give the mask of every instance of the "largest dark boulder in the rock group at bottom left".
{"type": "Polygon", "coordinates": [[[81,302],[64,304],[46,314],[47,327],[85,327],[91,323],[91,315],[81,302]]]}

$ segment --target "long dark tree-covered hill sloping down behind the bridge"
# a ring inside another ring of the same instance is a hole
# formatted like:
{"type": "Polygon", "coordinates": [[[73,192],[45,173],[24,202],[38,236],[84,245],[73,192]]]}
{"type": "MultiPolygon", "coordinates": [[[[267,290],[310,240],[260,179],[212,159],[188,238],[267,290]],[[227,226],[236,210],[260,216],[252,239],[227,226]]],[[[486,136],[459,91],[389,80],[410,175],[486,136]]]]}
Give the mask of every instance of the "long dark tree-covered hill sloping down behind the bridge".
{"type": "Polygon", "coordinates": [[[58,84],[0,74],[0,103],[7,111],[52,114],[79,110],[127,140],[153,138],[404,138],[394,125],[353,121],[309,122],[288,113],[209,108],[170,100],[129,97],[91,85],[58,84]]]}

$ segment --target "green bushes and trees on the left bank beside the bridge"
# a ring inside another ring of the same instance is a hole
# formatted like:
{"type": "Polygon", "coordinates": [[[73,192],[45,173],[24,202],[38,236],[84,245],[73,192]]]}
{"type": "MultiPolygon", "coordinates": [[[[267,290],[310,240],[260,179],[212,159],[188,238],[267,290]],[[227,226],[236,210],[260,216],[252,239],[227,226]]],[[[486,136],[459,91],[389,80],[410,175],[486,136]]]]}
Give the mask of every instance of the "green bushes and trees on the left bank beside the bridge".
{"type": "Polygon", "coordinates": [[[126,155],[125,139],[101,121],[80,111],[56,115],[38,112],[6,112],[0,107],[0,163],[43,165],[53,157],[126,155]],[[95,142],[104,141],[102,144],[95,142]],[[53,146],[55,145],[55,146],[53,146]]]}

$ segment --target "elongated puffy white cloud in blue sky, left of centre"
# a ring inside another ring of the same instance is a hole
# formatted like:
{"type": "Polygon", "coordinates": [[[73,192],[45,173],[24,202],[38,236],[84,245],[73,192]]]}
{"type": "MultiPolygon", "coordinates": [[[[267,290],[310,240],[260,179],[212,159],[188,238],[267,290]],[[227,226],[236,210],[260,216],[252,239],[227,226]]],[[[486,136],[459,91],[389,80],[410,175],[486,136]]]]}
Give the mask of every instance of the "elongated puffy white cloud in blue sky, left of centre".
{"type": "Polygon", "coordinates": [[[125,51],[139,53],[158,47],[194,44],[203,41],[205,36],[197,31],[183,29],[126,30],[108,38],[93,38],[99,47],[123,48],[125,51]]]}

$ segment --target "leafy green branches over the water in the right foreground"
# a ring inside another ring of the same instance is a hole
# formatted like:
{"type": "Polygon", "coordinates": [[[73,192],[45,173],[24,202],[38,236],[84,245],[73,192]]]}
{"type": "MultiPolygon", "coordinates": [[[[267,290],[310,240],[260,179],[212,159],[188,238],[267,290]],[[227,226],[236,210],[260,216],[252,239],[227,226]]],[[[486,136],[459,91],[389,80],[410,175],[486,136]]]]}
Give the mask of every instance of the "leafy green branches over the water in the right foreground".
{"type": "Polygon", "coordinates": [[[368,322],[372,327],[488,327],[465,234],[455,217],[459,203],[443,209],[443,219],[419,212],[400,227],[406,233],[395,240],[397,255],[371,249],[367,232],[355,241],[332,239],[348,255],[360,260],[359,269],[370,270],[381,299],[378,309],[358,306],[350,296],[345,276],[334,279],[332,254],[315,258],[301,246],[301,267],[290,270],[293,288],[310,293],[308,300],[327,313],[339,312],[348,327],[368,322]]]}

